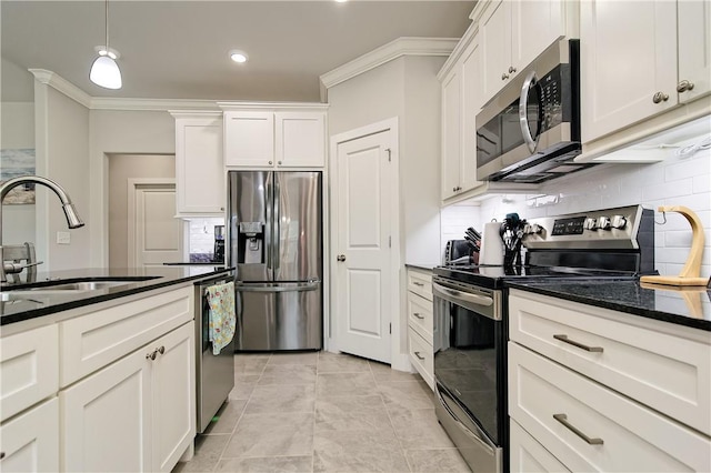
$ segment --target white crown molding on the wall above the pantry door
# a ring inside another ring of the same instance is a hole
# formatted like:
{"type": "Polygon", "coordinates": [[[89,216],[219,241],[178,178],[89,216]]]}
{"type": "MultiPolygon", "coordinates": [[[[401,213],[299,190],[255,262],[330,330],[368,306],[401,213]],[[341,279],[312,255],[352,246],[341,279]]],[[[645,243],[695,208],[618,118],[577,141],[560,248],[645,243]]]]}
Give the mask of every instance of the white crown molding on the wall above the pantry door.
{"type": "Polygon", "coordinates": [[[330,89],[402,56],[449,56],[458,42],[459,38],[398,38],[322,74],[319,79],[326,89],[330,89]]]}

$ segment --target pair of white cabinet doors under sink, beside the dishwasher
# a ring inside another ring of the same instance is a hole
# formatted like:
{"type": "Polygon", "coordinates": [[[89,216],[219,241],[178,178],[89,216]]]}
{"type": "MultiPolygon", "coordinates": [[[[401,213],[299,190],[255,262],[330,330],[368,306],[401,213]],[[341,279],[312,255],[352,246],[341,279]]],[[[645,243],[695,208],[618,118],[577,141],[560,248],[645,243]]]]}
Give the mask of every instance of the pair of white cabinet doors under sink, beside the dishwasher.
{"type": "Polygon", "coordinates": [[[63,471],[176,465],[196,433],[193,333],[187,323],[60,392],[63,471]]]}

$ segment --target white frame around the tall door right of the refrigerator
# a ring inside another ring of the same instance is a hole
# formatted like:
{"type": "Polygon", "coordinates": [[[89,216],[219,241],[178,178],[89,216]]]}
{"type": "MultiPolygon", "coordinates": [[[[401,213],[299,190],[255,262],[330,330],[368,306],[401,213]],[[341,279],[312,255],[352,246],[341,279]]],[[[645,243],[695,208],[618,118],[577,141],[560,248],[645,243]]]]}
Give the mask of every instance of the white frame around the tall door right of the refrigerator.
{"type": "MultiPolygon", "coordinates": [[[[390,286],[392,288],[390,294],[390,308],[392,311],[392,338],[391,338],[391,366],[400,371],[411,371],[410,360],[408,356],[407,336],[401,336],[404,330],[407,330],[407,321],[403,321],[400,313],[400,265],[401,265],[401,251],[400,251],[400,145],[399,145],[399,131],[398,131],[398,117],[393,117],[387,120],[382,120],[375,123],[368,124],[365,127],[349,130],[343,133],[334,134],[331,137],[330,143],[330,157],[329,157],[329,174],[330,179],[338,178],[338,145],[351,140],[368,137],[371,134],[380,133],[383,131],[391,131],[392,142],[390,147],[390,157],[392,163],[392,181],[390,182],[390,213],[393,217],[391,235],[392,246],[390,252],[390,266],[391,266],[391,280],[390,286]],[[402,343],[404,341],[404,344],[402,343]]],[[[334,199],[333,183],[329,181],[329,201],[331,203],[337,202],[334,199]]],[[[332,208],[331,208],[332,209],[332,208]]],[[[338,252],[336,245],[336,239],[338,238],[338,214],[331,212],[330,221],[330,235],[329,235],[329,252],[327,253],[328,266],[330,274],[337,274],[334,264],[338,252]]],[[[334,291],[337,284],[331,284],[331,291],[334,291]]],[[[338,314],[337,314],[337,301],[336,294],[330,294],[330,315],[324,320],[324,333],[327,343],[326,349],[331,352],[339,351],[338,340],[338,314]],[[336,314],[336,315],[334,315],[336,314]]]]}

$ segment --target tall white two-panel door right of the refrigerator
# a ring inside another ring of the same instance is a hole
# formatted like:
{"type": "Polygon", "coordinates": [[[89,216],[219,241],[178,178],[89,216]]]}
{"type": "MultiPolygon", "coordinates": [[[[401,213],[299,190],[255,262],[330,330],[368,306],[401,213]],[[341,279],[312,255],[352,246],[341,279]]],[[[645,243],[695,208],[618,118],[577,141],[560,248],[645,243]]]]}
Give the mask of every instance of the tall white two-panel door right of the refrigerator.
{"type": "Polygon", "coordinates": [[[338,143],[336,324],[343,352],[391,360],[390,130],[338,143]]]}

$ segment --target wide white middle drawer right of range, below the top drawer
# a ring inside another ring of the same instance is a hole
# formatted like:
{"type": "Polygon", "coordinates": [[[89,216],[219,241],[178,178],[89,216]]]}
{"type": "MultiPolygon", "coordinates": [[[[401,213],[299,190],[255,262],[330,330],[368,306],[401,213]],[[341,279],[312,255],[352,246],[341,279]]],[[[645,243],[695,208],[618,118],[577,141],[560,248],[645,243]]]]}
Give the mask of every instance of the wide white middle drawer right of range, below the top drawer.
{"type": "Polygon", "coordinates": [[[509,343],[509,413],[571,471],[711,471],[704,435],[509,343]]]}

